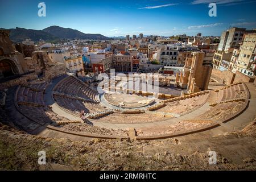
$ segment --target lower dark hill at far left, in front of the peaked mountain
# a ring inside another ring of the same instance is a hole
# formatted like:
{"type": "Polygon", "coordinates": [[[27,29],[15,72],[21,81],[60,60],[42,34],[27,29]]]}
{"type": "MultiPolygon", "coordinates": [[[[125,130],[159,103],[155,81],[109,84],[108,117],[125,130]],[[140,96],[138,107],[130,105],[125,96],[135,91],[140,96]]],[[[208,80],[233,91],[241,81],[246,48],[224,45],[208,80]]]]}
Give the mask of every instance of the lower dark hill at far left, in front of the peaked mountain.
{"type": "Polygon", "coordinates": [[[11,28],[9,30],[11,31],[10,39],[13,42],[17,42],[17,43],[22,42],[25,39],[31,39],[34,42],[38,42],[40,39],[43,39],[45,41],[59,40],[59,38],[57,38],[56,36],[42,30],[32,30],[32,29],[19,28],[19,27],[11,28]]]}

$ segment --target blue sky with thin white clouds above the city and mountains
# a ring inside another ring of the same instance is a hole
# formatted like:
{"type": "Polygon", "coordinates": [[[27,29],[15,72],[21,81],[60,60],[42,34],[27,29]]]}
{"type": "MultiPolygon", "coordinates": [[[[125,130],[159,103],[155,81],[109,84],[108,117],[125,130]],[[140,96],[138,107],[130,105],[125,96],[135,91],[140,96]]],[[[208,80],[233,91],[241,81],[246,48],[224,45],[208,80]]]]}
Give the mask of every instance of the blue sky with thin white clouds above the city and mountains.
{"type": "Polygon", "coordinates": [[[0,0],[0,27],[42,30],[57,25],[105,36],[221,35],[232,27],[256,28],[256,0],[0,0]],[[46,17],[38,3],[46,3],[46,17]],[[217,17],[208,15],[217,3],[217,17]]]}

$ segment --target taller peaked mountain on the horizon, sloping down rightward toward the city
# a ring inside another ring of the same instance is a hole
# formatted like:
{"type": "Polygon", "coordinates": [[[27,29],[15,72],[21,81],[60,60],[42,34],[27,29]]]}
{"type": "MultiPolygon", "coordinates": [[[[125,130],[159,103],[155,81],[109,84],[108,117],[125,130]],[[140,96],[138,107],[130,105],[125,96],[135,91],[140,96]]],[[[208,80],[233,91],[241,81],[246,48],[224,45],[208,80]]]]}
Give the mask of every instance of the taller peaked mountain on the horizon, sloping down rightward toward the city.
{"type": "Polygon", "coordinates": [[[108,38],[101,34],[84,34],[78,30],[72,28],[63,28],[59,26],[51,26],[44,28],[42,31],[48,32],[54,36],[57,36],[61,39],[90,39],[90,40],[109,40],[108,38]]]}

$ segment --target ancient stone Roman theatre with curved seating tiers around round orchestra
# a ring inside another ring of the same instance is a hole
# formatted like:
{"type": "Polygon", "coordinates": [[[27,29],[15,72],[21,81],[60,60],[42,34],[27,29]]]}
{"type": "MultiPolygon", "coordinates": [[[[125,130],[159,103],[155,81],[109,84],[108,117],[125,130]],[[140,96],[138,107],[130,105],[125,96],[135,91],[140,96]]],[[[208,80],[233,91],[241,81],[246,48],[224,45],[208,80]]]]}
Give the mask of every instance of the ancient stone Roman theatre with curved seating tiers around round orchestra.
{"type": "Polygon", "coordinates": [[[159,86],[159,93],[126,89],[127,83],[118,80],[105,81],[109,87],[99,93],[100,83],[59,74],[9,85],[1,92],[1,117],[7,125],[42,137],[152,140],[240,130],[255,114],[253,82],[195,93],[172,86],[159,86]]]}

